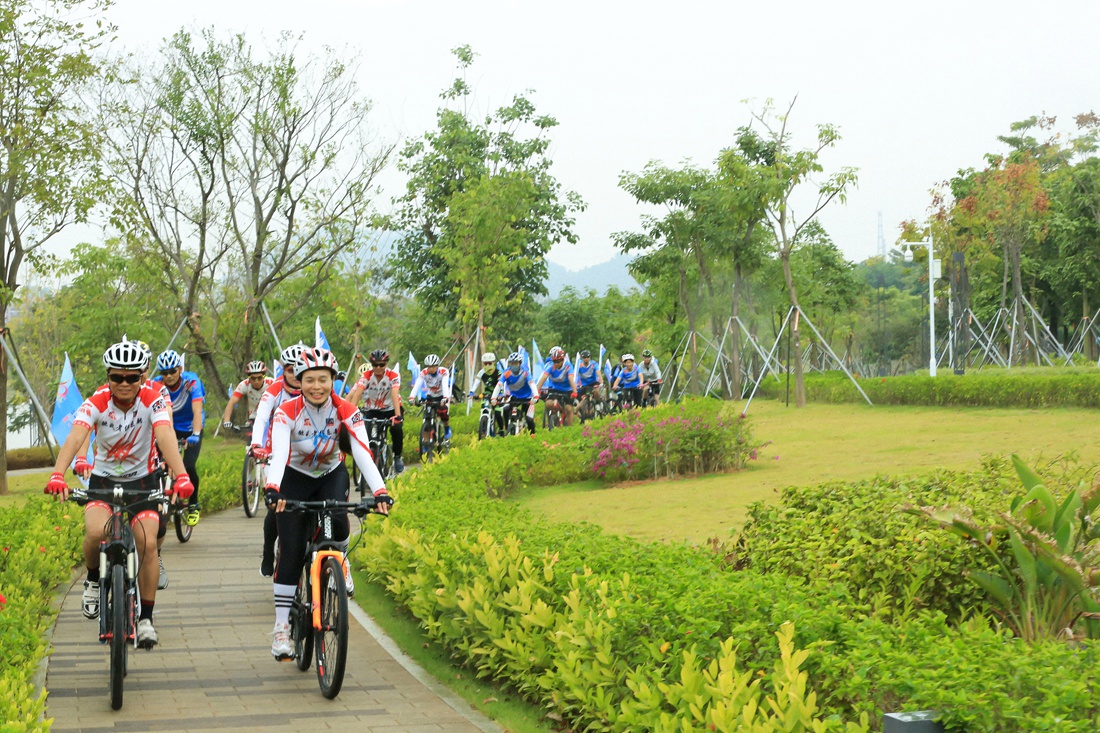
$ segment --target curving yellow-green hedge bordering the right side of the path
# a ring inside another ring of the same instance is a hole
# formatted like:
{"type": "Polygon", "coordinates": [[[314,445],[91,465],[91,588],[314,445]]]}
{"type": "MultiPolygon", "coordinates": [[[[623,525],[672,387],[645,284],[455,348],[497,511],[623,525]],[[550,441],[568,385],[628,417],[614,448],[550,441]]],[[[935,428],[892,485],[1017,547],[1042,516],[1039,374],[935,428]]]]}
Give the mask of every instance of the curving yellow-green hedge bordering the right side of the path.
{"type": "MultiPolygon", "coordinates": [[[[510,490],[583,472],[573,436],[551,435],[541,453],[531,448],[541,441],[507,438],[424,468],[398,486],[393,517],[371,527],[359,560],[458,659],[573,729],[757,730],[729,722],[737,703],[701,670],[736,668],[760,679],[766,697],[789,693],[782,677],[769,676],[784,664],[776,634],[787,622],[791,644],[809,653],[794,676],[809,678],[799,688],[806,716],[781,730],[858,730],[853,721],[924,708],[944,711],[953,731],[1076,732],[1100,722],[1096,644],[1025,645],[980,616],[956,626],[915,606],[883,613],[878,600],[887,591],[861,592],[855,577],[735,571],[718,554],[553,525],[486,499],[497,472],[510,490]]],[[[943,474],[928,491],[996,493],[1002,472],[988,469],[964,484],[943,474]]],[[[843,502],[842,488],[832,491],[843,502]]],[[[924,540],[955,541],[946,533],[924,540]]],[[[807,565],[828,557],[828,545],[807,565]]],[[[902,537],[873,547],[864,561],[875,553],[903,558],[913,544],[902,537]]],[[[832,562],[853,556],[844,543],[833,548],[832,562]]],[[[958,570],[949,554],[944,560],[930,550],[921,562],[945,578],[958,570]]],[[[881,582],[897,588],[903,575],[881,582]]],[[[960,576],[943,579],[942,595],[968,592],[960,576]]]]}

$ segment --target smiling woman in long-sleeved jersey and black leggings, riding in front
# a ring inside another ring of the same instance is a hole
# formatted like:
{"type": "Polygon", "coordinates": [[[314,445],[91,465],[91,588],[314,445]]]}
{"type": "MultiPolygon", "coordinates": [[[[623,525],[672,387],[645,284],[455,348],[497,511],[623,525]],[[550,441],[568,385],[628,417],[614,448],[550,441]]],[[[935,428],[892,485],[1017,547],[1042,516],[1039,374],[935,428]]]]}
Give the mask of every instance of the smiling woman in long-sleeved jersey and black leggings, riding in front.
{"type": "MultiPolygon", "coordinates": [[[[346,501],[351,479],[340,449],[341,435],[345,435],[359,470],[378,500],[378,511],[387,513],[392,503],[367,448],[363,415],[353,403],[337,396],[332,389],[338,371],[337,359],[328,349],[302,350],[294,364],[294,375],[301,382],[301,394],[279,405],[272,419],[272,461],[264,499],[275,507],[278,521],[279,562],[273,583],[272,656],[279,661],[294,656],[289,638],[290,606],[306,561],[310,522],[308,514],[284,513],[285,500],[346,501]]],[[[346,543],[346,512],[332,518],[333,539],[346,543]]]]}

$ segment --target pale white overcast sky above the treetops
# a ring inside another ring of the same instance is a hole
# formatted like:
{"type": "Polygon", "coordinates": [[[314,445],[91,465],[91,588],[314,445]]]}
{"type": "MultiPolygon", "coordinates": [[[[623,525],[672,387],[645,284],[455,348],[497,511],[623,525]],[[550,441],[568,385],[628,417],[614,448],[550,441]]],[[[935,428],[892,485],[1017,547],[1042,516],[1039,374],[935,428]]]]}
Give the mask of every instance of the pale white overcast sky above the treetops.
{"type": "MultiPolygon", "coordinates": [[[[859,168],[859,187],[823,223],[850,260],[924,218],[928,189],[1000,150],[997,135],[1032,114],[1100,110],[1097,0],[1047,2],[450,2],[411,0],[117,0],[120,48],[152,52],[182,26],[288,30],[307,47],[348,48],[373,99],[372,125],[400,142],[435,124],[470,44],[480,108],[532,89],[556,117],[553,171],[587,203],[578,245],[550,259],[580,269],[612,258],[610,234],[641,209],[617,187],[659,160],[710,164],[749,122],[744,99],[787,103],[809,143],[831,122],[843,140],[828,169],[859,168]]],[[[386,174],[386,197],[403,178],[386,174]]]]}

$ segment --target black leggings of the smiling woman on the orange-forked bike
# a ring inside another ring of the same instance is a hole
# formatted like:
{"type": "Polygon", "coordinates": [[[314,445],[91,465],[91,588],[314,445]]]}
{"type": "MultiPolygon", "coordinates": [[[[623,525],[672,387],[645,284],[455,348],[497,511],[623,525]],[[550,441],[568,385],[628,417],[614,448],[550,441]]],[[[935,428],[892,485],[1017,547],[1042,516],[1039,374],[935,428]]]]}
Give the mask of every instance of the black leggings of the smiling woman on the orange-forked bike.
{"type": "MultiPolygon", "coordinates": [[[[348,490],[351,480],[348,478],[348,467],[338,463],[336,469],[316,479],[287,468],[283,474],[283,485],[279,495],[283,499],[298,501],[321,501],[334,499],[348,501],[348,490]]],[[[309,512],[277,512],[275,522],[278,524],[278,566],[275,568],[275,582],[283,586],[297,586],[301,568],[306,564],[306,545],[314,537],[317,526],[315,515],[309,512]]],[[[350,534],[348,512],[337,512],[332,515],[332,539],[343,541],[350,534]]]]}

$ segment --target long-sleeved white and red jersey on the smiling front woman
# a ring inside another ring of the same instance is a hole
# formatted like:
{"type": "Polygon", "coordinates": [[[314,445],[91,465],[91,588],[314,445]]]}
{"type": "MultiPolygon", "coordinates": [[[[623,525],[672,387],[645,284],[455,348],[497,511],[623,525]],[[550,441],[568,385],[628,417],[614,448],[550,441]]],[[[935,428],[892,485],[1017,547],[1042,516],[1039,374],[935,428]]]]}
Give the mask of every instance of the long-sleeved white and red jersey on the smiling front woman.
{"type": "Polygon", "coordinates": [[[340,450],[340,428],[348,430],[351,453],[373,493],[386,488],[367,448],[363,415],[355,405],[338,397],[336,392],[320,407],[298,395],[283,403],[272,419],[272,460],[267,483],[283,482],[287,467],[314,478],[331,473],[343,462],[340,450]]]}

